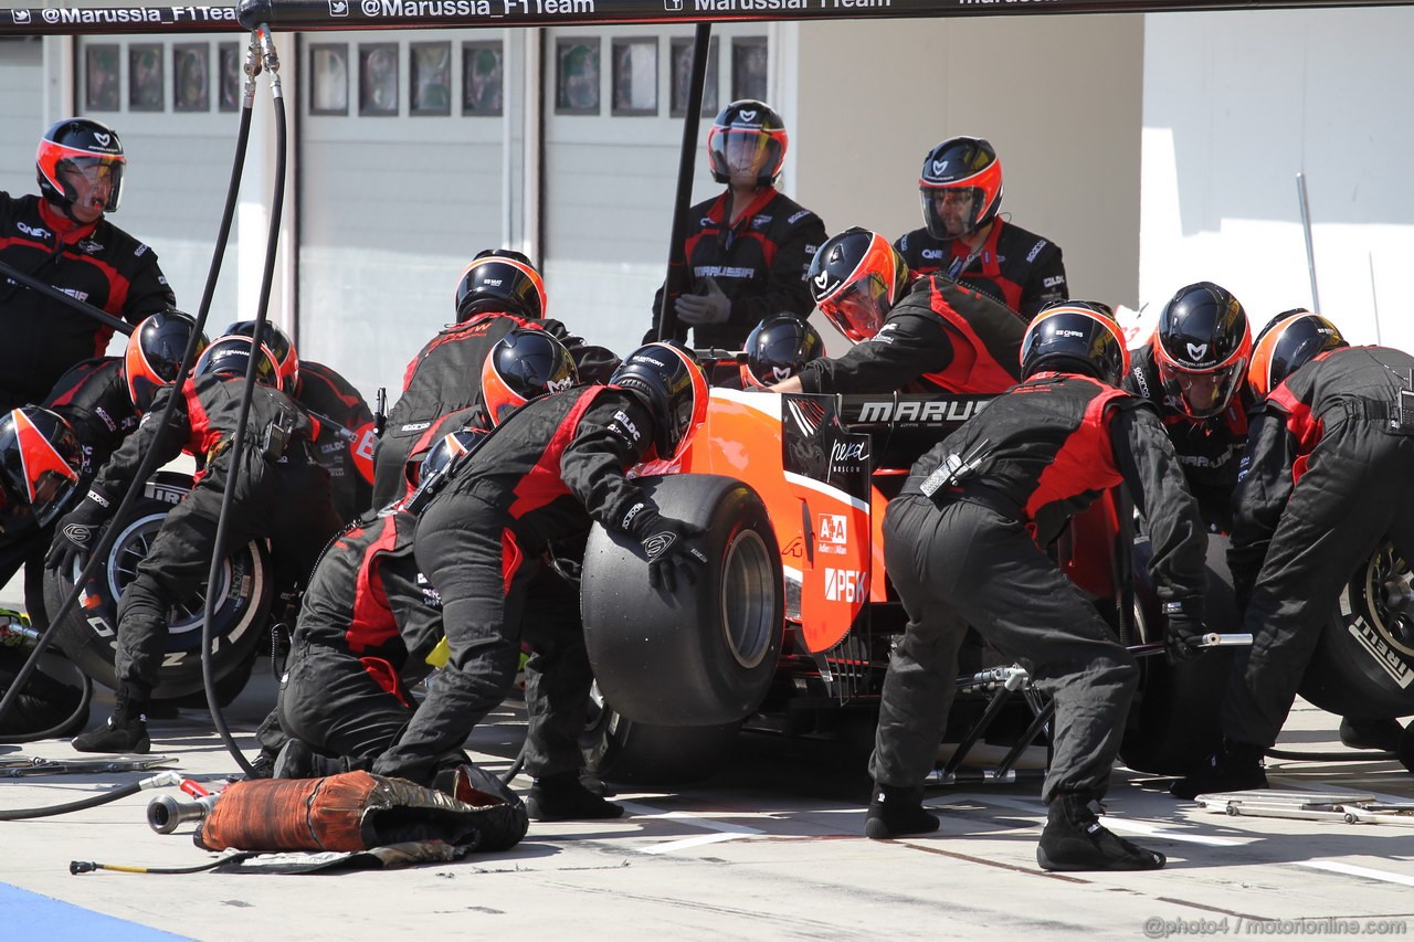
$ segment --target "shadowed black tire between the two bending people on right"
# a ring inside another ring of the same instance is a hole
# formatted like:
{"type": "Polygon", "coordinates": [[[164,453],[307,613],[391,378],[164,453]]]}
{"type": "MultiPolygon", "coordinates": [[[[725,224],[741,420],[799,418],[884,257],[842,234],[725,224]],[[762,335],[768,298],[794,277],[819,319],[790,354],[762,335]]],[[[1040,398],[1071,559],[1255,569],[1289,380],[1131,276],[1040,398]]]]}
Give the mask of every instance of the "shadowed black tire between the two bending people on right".
{"type": "MultiPolygon", "coordinates": [[[[1205,618],[1212,631],[1233,632],[1237,607],[1227,569],[1229,540],[1208,537],[1205,618]]],[[[1148,577],[1150,545],[1134,545],[1135,608],[1140,638],[1162,641],[1164,615],[1148,577]]],[[[1222,740],[1219,706],[1232,669],[1233,648],[1209,651],[1193,661],[1169,663],[1167,655],[1140,658],[1140,686],[1120,744],[1120,761],[1137,772],[1188,775],[1202,768],[1222,740]]]]}

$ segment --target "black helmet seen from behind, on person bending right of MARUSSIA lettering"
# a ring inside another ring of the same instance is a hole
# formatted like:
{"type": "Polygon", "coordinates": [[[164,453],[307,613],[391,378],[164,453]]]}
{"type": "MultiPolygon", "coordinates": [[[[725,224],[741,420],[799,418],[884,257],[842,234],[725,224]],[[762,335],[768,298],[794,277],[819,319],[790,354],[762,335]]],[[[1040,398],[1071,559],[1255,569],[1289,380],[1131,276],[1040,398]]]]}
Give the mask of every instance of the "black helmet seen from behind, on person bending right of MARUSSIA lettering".
{"type": "Polygon", "coordinates": [[[1021,378],[1083,373],[1117,386],[1130,369],[1130,351],[1107,310],[1100,301],[1056,301],[1041,308],[1021,337],[1021,378]]]}

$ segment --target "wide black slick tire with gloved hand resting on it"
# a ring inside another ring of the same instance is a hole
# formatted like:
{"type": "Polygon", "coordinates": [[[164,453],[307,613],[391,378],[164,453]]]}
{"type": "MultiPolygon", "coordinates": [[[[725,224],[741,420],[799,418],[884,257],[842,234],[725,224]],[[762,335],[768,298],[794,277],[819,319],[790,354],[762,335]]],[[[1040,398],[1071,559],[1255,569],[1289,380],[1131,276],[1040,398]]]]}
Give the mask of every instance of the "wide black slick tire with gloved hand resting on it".
{"type": "Polygon", "coordinates": [[[639,478],[663,516],[703,528],[694,584],[650,588],[638,540],[595,526],[581,608],[604,699],[655,726],[721,726],[761,704],[785,625],[781,552],[756,492],[710,474],[639,478]]]}

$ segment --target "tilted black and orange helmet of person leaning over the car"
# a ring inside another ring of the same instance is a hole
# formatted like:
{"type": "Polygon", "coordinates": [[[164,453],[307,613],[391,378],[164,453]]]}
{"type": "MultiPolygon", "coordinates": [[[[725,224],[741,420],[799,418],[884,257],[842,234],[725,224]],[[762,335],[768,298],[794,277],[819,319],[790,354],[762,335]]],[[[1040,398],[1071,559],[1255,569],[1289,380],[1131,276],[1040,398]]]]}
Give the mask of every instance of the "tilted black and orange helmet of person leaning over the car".
{"type": "Polygon", "coordinates": [[[888,239],[858,226],[826,239],[806,274],[816,307],[854,344],[878,334],[909,277],[888,239]]]}

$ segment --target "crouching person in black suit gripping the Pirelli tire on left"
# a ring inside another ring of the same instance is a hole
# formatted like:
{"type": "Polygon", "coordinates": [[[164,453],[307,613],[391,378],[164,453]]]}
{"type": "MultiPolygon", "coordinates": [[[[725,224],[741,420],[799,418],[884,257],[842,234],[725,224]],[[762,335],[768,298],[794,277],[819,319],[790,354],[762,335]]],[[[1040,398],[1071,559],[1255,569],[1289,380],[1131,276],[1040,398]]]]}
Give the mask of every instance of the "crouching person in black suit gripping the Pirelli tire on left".
{"type": "Polygon", "coordinates": [[[301,584],[320,550],[338,532],[329,498],[329,475],[320,467],[310,417],[280,392],[270,351],[252,348],[247,337],[222,337],[208,347],[192,376],[163,386],[144,419],[160,414],[168,396],[180,396],[171,421],[143,421],[99,471],[88,495],[59,519],[45,560],[69,571],[96,542],[100,526],[117,509],[148,450],[158,463],[188,450],[199,474],[191,492],[163,521],[137,576],[117,604],[117,702],[107,726],[74,740],[81,752],[146,752],[150,748],[144,710],[157,683],[167,617],[188,601],[206,578],[216,539],[222,495],[232,484],[230,464],[246,368],[257,356],[257,389],[250,402],[242,468],[228,522],[228,546],[270,539],[277,591],[301,584]]]}

